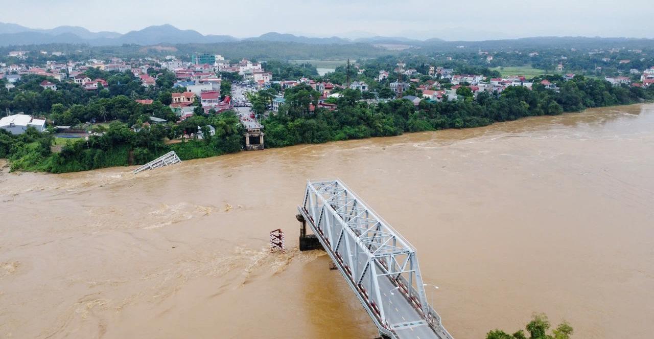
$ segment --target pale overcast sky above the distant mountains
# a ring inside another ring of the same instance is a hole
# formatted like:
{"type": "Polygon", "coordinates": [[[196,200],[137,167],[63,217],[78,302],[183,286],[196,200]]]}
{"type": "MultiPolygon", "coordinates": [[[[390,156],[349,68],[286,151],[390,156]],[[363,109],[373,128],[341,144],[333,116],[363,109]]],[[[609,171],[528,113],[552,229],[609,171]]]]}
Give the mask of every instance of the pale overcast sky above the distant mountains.
{"type": "Polygon", "coordinates": [[[543,35],[654,38],[654,0],[0,0],[0,22],[126,33],[171,24],[203,34],[481,40],[543,35]]]}

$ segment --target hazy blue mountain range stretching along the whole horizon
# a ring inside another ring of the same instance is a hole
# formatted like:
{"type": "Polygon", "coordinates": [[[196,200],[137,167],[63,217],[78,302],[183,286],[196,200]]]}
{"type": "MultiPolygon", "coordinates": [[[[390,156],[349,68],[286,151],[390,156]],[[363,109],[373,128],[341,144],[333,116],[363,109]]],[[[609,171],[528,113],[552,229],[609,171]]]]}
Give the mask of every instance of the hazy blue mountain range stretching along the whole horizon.
{"type": "MultiPolygon", "coordinates": [[[[202,35],[192,29],[179,29],[171,25],[149,26],[138,31],[129,31],[121,34],[102,31],[92,32],[84,27],[60,26],[52,29],[35,29],[17,24],[4,24],[0,22],[0,46],[42,45],[42,44],[88,44],[91,46],[120,46],[158,45],[158,44],[206,44],[206,43],[232,43],[232,42],[267,42],[267,43],[302,43],[310,45],[409,45],[420,48],[458,48],[465,45],[474,48],[506,47],[539,47],[559,46],[576,47],[594,46],[598,43],[616,44],[628,43],[634,46],[654,44],[653,39],[634,38],[600,38],[600,37],[532,37],[521,39],[502,39],[489,41],[444,41],[438,38],[420,40],[407,37],[380,37],[367,33],[361,37],[361,32],[344,33],[352,39],[344,37],[304,37],[301,35],[269,32],[258,37],[238,39],[231,35],[202,35]],[[358,35],[359,37],[356,37],[358,35]]],[[[424,36],[424,32],[422,32],[424,36]]],[[[388,48],[393,48],[388,46],[388,48]]]]}

